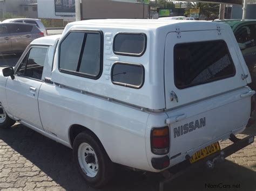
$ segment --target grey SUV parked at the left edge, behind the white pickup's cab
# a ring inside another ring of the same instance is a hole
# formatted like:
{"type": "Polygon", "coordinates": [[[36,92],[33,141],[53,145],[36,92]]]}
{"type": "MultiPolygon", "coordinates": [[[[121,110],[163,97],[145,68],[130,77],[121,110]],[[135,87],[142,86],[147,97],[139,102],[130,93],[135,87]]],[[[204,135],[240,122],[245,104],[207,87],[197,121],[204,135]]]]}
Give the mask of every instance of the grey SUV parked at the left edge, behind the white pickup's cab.
{"type": "Polygon", "coordinates": [[[20,54],[31,41],[44,37],[34,24],[0,23],[0,55],[20,54]]]}

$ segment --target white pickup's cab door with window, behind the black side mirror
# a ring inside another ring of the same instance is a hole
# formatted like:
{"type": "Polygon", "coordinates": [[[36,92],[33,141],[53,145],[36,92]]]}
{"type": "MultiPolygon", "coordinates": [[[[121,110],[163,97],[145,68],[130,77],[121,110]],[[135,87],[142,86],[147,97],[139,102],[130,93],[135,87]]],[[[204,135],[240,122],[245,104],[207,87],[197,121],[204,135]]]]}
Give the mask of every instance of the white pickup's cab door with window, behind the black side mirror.
{"type": "Polygon", "coordinates": [[[15,70],[15,78],[8,77],[6,98],[10,113],[21,121],[43,129],[38,108],[38,93],[43,83],[42,74],[47,46],[32,46],[15,70]]]}

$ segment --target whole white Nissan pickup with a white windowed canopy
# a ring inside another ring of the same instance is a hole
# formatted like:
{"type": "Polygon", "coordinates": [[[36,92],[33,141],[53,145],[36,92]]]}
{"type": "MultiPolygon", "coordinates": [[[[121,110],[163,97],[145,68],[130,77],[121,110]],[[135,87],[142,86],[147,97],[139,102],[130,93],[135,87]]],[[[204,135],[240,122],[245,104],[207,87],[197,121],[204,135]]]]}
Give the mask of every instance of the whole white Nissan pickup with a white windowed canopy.
{"type": "Polygon", "coordinates": [[[240,150],[254,91],[230,26],[181,20],[70,23],[0,75],[0,127],[16,121],[73,149],[105,185],[114,164],[162,172],[240,150]],[[5,76],[5,77],[4,77],[5,76]],[[234,142],[220,148],[219,141],[234,142]]]}

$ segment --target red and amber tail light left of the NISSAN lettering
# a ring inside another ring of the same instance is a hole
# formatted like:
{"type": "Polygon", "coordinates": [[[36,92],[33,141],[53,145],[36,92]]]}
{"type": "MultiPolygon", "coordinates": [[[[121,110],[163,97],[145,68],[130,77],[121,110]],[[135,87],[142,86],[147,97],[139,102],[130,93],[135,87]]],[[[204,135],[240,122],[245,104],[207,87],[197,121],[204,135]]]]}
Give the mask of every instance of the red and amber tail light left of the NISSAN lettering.
{"type": "Polygon", "coordinates": [[[151,130],[151,152],[154,154],[167,154],[170,148],[169,127],[153,128],[151,130]]]}

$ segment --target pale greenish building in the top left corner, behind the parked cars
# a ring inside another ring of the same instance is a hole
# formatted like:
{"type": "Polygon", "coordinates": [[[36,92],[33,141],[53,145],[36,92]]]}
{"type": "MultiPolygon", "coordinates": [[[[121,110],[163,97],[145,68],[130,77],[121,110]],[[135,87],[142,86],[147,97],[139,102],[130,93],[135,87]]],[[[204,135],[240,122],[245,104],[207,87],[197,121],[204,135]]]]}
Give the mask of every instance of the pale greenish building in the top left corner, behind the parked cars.
{"type": "Polygon", "coordinates": [[[0,19],[11,16],[38,18],[37,0],[0,0],[0,19]]]}

